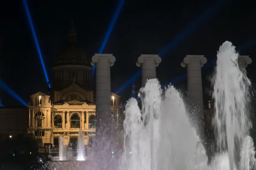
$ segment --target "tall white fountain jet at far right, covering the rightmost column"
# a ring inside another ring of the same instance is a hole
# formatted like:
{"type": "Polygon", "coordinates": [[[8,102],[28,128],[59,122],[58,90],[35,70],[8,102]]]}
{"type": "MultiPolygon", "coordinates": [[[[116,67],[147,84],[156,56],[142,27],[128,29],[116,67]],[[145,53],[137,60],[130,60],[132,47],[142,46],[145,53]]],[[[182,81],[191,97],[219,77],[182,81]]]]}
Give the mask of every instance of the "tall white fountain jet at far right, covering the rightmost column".
{"type": "MultiPolygon", "coordinates": [[[[251,144],[249,146],[252,148],[241,147],[252,142],[250,138],[245,138],[252,127],[249,119],[251,83],[245,70],[239,68],[238,59],[239,54],[232,43],[224,42],[217,54],[217,65],[212,79],[217,145],[219,150],[227,149],[230,170],[238,169],[239,162],[243,164],[246,161],[244,160],[244,153],[253,150],[251,144]]],[[[245,169],[249,170],[248,168],[245,169]]],[[[245,169],[243,165],[242,170],[245,169]]]]}

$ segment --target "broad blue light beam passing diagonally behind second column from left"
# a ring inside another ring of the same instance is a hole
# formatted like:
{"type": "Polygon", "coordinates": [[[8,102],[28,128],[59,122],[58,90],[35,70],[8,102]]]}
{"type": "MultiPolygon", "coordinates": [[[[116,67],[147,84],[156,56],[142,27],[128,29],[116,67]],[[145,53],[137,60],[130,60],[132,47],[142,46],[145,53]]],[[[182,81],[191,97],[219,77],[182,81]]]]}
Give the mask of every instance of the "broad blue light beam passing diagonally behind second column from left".
{"type": "MultiPolygon", "coordinates": [[[[219,10],[219,7],[224,3],[227,3],[227,1],[223,1],[223,0],[219,0],[217,3],[215,3],[213,6],[211,6],[210,8],[208,8],[207,10],[205,10],[203,12],[203,14],[201,15],[201,17],[195,19],[184,31],[182,31],[179,36],[177,36],[174,40],[172,40],[171,42],[169,42],[168,45],[166,45],[165,48],[163,48],[163,50],[160,52],[159,56],[161,58],[165,57],[164,54],[166,54],[167,51],[172,50],[173,48],[175,48],[175,46],[180,43],[182,40],[184,40],[184,38],[186,38],[189,33],[191,33],[192,31],[195,30],[195,28],[197,28],[200,23],[202,23],[204,20],[207,19],[207,17],[210,16],[210,14],[212,14],[213,12],[216,11],[216,9],[219,10]]],[[[141,69],[140,71],[138,71],[134,76],[131,77],[131,79],[128,80],[128,82],[126,82],[124,85],[122,85],[122,87],[116,91],[117,93],[115,94],[119,94],[122,89],[124,89],[126,86],[128,86],[131,82],[133,82],[134,77],[138,77],[141,74],[141,69]]]]}

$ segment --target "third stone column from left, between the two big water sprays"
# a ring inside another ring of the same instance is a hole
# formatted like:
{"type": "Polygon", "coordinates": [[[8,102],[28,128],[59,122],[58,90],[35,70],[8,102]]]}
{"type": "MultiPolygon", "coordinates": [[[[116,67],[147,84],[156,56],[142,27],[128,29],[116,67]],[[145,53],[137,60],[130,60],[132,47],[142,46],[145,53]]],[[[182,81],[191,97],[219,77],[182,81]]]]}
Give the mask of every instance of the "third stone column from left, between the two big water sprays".
{"type": "Polygon", "coordinates": [[[207,62],[204,55],[187,55],[181,62],[187,67],[187,91],[190,113],[198,135],[204,141],[204,106],[201,67],[207,62]]]}

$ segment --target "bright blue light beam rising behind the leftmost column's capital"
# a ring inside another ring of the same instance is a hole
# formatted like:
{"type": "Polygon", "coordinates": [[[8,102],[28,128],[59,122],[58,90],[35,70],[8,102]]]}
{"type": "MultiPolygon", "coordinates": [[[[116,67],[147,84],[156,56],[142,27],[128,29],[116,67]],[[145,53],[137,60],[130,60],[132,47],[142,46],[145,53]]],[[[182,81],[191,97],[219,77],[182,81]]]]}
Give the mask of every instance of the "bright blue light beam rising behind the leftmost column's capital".
{"type": "MultiPolygon", "coordinates": [[[[119,0],[119,5],[116,8],[116,11],[115,11],[115,13],[113,15],[113,19],[111,20],[111,23],[110,23],[110,25],[108,27],[108,30],[107,30],[107,32],[105,34],[105,37],[103,39],[102,45],[99,48],[99,54],[102,54],[102,52],[103,52],[103,50],[104,50],[104,48],[105,48],[105,46],[106,46],[106,44],[108,42],[109,36],[110,36],[110,34],[111,34],[115,24],[116,24],[116,20],[117,20],[117,18],[119,16],[119,13],[120,13],[124,3],[125,3],[125,0],[119,0]]],[[[92,75],[94,75],[94,73],[95,73],[95,68],[96,67],[93,66],[93,73],[92,73],[92,75]]]]}

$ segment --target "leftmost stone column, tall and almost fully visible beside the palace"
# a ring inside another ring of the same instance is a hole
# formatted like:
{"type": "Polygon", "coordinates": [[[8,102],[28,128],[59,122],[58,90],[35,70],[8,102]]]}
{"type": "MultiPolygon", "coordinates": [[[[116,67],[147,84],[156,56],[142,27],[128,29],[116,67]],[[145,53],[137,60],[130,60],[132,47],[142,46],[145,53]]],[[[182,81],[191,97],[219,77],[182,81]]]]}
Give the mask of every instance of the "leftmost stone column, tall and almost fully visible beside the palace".
{"type": "Polygon", "coordinates": [[[110,67],[116,58],[112,54],[95,54],[91,65],[96,66],[96,169],[111,169],[111,78],[110,67]],[[109,147],[106,147],[109,146],[109,147]]]}

